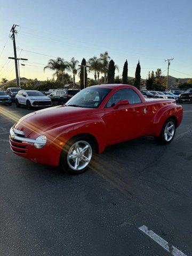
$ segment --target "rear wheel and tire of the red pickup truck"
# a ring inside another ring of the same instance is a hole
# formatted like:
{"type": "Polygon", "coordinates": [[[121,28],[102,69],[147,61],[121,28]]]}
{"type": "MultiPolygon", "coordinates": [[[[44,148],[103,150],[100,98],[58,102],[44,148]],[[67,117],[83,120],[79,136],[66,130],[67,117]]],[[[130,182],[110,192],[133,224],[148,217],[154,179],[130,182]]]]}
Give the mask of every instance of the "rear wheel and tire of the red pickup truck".
{"type": "Polygon", "coordinates": [[[173,118],[169,118],[165,121],[159,136],[154,137],[154,139],[161,145],[169,144],[174,139],[175,131],[175,120],[173,118]]]}

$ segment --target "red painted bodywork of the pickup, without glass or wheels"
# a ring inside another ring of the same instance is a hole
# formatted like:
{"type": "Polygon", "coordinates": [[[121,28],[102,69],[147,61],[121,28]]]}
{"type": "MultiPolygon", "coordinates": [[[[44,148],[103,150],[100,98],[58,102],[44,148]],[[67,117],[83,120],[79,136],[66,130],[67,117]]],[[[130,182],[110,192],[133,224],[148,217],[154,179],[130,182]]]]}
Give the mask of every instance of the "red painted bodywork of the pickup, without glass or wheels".
{"type": "Polygon", "coordinates": [[[145,135],[158,136],[164,122],[171,116],[177,119],[177,127],[182,121],[182,107],[172,99],[146,101],[131,85],[95,86],[113,89],[97,109],[58,106],[22,117],[14,125],[15,129],[24,131],[25,136],[31,139],[46,135],[47,143],[42,149],[37,149],[33,144],[10,139],[12,151],[32,161],[57,166],[65,143],[78,134],[92,135],[97,140],[98,151],[101,153],[106,146],[121,141],[145,135]],[[118,109],[105,108],[111,95],[125,88],[137,92],[142,102],[119,106],[118,109]],[[146,114],[143,112],[145,108],[146,114]]]}

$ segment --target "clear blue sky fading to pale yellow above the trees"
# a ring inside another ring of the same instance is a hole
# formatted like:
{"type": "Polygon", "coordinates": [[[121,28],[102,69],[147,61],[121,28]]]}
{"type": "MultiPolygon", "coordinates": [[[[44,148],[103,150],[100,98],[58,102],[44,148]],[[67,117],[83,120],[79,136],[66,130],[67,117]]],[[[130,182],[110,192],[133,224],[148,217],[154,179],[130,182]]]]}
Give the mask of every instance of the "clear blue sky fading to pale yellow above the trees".
{"type": "Polygon", "coordinates": [[[27,78],[51,78],[51,71],[43,71],[51,57],[24,50],[79,61],[108,51],[119,75],[127,59],[129,76],[134,76],[139,59],[142,78],[156,68],[166,74],[164,60],[173,57],[170,75],[192,77],[191,10],[190,0],[1,1],[0,54],[7,44],[0,56],[0,79],[15,78],[13,60],[7,61],[13,55],[8,39],[13,23],[20,25],[17,47],[23,51],[18,55],[31,62],[20,68],[27,78]]]}

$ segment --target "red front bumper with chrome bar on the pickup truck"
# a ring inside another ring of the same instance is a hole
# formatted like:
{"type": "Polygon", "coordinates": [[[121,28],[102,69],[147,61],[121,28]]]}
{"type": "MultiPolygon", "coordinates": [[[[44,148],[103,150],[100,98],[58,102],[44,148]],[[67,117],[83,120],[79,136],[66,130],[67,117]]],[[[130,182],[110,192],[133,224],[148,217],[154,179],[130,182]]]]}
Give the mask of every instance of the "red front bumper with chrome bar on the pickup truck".
{"type": "Polygon", "coordinates": [[[25,157],[33,162],[51,166],[59,165],[61,149],[54,142],[46,142],[45,146],[37,149],[34,143],[42,144],[43,141],[26,138],[22,134],[14,132],[13,127],[10,130],[10,148],[14,154],[25,157]]]}

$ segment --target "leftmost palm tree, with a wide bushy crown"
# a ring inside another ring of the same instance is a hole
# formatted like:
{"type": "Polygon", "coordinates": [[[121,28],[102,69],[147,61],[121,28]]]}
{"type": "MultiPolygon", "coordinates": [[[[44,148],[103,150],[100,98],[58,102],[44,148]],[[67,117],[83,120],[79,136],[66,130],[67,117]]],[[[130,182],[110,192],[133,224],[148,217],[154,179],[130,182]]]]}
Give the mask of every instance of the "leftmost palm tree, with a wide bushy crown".
{"type": "Polygon", "coordinates": [[[62,84],[65,84],[64,81],[64,74],[65,74],[65,70],[69,70],[69,64],[67,61],[65,61],[63,58],[58,57],[56,60],[50,59],[47,63],[47,66],[44,67],[44,71],[45,69],[51,69],[51,70],[55,70],[55,73],[53,74],[53,76],[57,76],[57,78],[59,77],[59,75],[61,75],[62,77],[62,84]]]}

